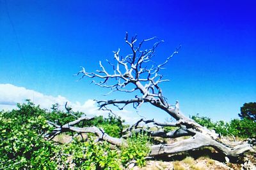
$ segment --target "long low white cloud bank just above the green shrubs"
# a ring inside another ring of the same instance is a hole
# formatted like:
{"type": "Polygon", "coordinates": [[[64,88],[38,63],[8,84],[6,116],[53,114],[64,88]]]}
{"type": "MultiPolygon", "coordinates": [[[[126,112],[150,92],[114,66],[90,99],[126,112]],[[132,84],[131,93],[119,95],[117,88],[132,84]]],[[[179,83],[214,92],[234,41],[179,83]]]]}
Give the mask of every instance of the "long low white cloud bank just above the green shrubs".
{"type": "MultiPolygon", "coordinates": [[[[40,104],[41,108],[48,110],[55,103],[60,104],[61,109],[64,109],[65,103],[68,102],[68,106],[71,106],[74,111],[82,111],[88,116],[103,115],[106,117],[109,113],[108,111],[97,110],[97,103],[93,99],[88,99],[83,104],[78,101],[72,103],[66,97],[60,95],[57,97],[48,96],[24,87],[17,87],[12,84],[0,84],[0,110],[12,110],[16,108],[17,103],[24,103],[26,99],[31,99],[36,105],[40,104]]],[[[139,119],[137,116],[134,117],[131,111],[122,110],[115,111],[115,113],[130,124],[139,119]]]]}

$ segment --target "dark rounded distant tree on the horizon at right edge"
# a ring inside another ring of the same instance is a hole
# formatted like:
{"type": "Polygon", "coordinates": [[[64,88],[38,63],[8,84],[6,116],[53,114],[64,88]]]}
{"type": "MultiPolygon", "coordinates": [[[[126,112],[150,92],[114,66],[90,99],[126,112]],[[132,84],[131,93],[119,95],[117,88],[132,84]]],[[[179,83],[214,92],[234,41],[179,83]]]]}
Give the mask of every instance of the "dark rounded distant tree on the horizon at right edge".
{"type": "Polygon", "coordinates": [[[244,103],[240,110],[238,115],[241,119],[248,118],[256,122],[256,102],[244,103]]]}

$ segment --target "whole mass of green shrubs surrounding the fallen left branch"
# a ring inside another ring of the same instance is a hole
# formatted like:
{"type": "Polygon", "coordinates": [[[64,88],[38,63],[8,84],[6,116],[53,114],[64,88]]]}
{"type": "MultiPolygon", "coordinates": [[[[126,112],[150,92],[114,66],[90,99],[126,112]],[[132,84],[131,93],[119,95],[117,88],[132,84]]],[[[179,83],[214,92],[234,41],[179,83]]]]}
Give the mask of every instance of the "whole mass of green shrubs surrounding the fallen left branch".
{"type": "MultiPolygon", "coordinates": [[[[0,169],[122,169],[131,161],[138,166],[145,165],[145,157],[150,151],[149,138],[145,134],[133,134],[127,139],[128,146],[121,148],[113,148],[102,141],[95,144],[93,134],[88,139],[75,139],[62,145],[43,137],[53,130],[47,120],[61,125],[76,117],[58,110],[58,104],[52,106],[52,111],[42,110],[29,100],[17,106],[17,110],[0,111],[0,169]]],[[[80,122],[77,126],[95,125],[119,138],[123,122],[109,115],[80,122]]]]}

